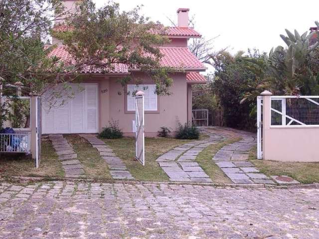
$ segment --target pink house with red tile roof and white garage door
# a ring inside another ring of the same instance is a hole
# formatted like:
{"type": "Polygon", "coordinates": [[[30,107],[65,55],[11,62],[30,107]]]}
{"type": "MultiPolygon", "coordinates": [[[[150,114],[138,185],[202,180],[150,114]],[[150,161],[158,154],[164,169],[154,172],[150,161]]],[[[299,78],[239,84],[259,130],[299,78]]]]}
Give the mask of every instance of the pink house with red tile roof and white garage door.
{"type": "MultiPolygon", "coordinates": [[[[66,0],[64,5],[70,9],[74,1],[66,0]]],[[[191,121],[193,84],[205,83],[205,78],[199,72],[205,71],[203,64],[188,50],[187,41],[192,37],[201,37],[194,29],[188,27],[187,8],[177,10],[178,25],[169,27],[167,37],[170,42],[160,46],[163,54],[162,66],[177,68],[182,72],[171,74],[173,86],[170,87],[169,96],[158,96],[154,93],[156,85],[139,69],[130,69],[125,65],[115,65],[109,73],[99,71],[83,71],[87,79],[81,83],[83,91],[77,91],[77,85],[71,84],[75,96],[65,99],[60,107],[48,107],[45,97],[42,99],[42,133],[98,133],[109,121],[116,120],[126,136],[133,136],[135,119],[135,99],[132,95],[123,92],[123,87],[118,82],[128,74],[132,78],[143,79],[139,90],[145,92],[145,133],[146,136],[156,136],[161,126],[166,126],[174,131],[177,120],[184,124],[191,121]]],[[[50,55],[61,59],[68,59],[69,53],[62,42],[52,39],[57,43],[50,55]]],[[[126,91],[136,90],[135,82],[126,86],[126,91]]],[[[46,93],[49,94],[50,92],[46,93]]]]}

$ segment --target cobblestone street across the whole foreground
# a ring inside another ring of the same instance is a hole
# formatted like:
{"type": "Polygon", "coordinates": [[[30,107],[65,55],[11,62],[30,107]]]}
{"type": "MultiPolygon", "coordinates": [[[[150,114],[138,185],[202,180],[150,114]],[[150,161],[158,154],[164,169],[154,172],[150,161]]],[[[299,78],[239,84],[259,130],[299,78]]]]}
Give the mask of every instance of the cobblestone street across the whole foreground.
{"type": "Polygon", "coordinates": [[[319,238],[318,189],[0,186],[0,238],[319,238]]]}

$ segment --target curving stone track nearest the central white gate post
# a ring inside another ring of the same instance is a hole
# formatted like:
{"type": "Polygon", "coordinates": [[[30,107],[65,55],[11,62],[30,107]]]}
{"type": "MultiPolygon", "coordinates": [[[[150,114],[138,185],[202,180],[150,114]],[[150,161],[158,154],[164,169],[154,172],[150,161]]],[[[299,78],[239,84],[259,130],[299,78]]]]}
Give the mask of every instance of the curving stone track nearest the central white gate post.
{"type": "Polygon", "coordinates": [[[209,139],[185,143],[162,154],[156,161],[170,181],[210,183],[211,179],[195,159],[204,148],[220,140],[220,136],[210,135],[209,139]]]}

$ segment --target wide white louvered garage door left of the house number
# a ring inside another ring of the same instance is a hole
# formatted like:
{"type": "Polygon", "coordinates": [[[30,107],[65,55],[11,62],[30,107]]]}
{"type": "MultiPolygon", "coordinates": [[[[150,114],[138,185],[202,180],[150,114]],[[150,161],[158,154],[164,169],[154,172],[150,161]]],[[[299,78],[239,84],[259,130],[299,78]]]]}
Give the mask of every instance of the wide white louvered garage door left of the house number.
{"type": "Polygon", "coordinates": [[[98,84],[70,86],[68,93],[59,85],[42,97],[42,133],[98,132],[98,84]],[[64,97],[54,97],[57,92],[64,97]],[[74,94],[71,99],[67,97],[70,93],[74,94]]]}

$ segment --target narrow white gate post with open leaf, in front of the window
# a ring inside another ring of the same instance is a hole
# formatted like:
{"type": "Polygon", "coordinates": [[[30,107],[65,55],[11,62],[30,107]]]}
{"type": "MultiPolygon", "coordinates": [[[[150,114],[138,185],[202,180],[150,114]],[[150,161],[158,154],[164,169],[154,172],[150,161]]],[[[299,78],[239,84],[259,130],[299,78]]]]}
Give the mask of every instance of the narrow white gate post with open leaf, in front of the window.
{"type": "Polygon", "coordinates": [[[136,153],[135,157],[145,166],[145,140],[144,140],[144,92],[139,91],[135,96],[135,122],[136,122],[136,153]]]}

